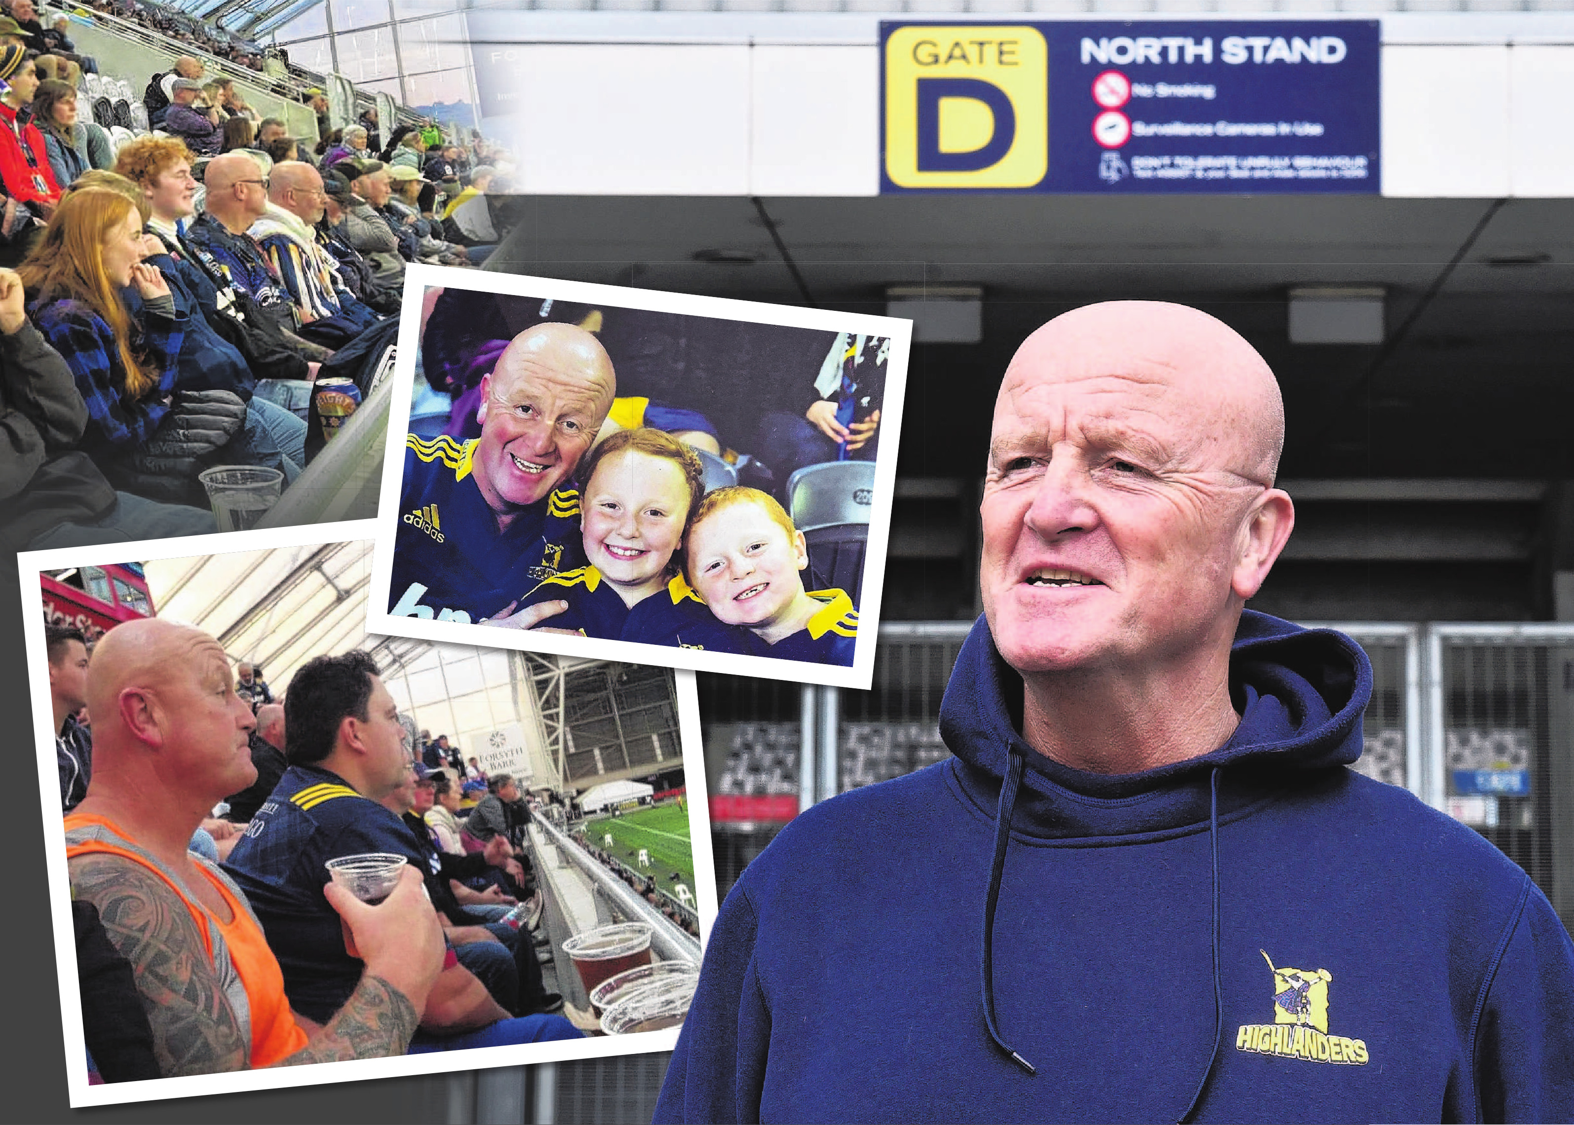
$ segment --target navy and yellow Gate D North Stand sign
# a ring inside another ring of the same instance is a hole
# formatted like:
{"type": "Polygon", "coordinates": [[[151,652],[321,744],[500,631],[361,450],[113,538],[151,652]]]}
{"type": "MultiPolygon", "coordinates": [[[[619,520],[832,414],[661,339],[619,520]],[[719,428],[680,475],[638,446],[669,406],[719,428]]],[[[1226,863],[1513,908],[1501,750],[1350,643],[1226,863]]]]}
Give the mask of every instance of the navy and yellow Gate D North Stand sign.
{"type": "Polygon", "coordinates": [[[1377,192],[1377,20],[892,24],[881,192],[1377,192]]]}

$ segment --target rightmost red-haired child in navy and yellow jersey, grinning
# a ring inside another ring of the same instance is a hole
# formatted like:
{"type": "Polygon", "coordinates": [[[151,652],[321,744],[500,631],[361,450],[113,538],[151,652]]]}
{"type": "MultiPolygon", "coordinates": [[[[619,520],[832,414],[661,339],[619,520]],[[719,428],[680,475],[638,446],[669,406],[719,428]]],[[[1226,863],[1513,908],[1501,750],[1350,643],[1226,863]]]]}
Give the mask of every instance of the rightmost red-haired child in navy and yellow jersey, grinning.
{"type": "Polygon", "coordinates": [[[708,492],[689,521],[686,559],[689,587],[719,626],[686,626],[696,639],[713,639],[699,640],[700,647],[817,664],[853,662],[858,610],[842,590],[803,588],[807,544],[768,492],[708,492]],[[741,645],[730,648],[737,640],[741,645]]]}

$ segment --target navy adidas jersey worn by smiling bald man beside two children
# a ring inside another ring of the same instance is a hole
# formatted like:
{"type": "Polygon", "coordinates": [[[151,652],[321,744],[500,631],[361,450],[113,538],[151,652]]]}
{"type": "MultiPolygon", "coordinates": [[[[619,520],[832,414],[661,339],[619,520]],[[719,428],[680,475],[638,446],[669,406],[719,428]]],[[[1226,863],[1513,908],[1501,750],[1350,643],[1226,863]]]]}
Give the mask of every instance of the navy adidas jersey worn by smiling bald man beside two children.
{"type": "Polygon", "coordinates": [[[389,582],[389,612],[478,622],[540,582],[584,566],[579,492],[556,489],[508,530],[486,505],[471,458],[475,441],[405,439],[405,483],[389,582]]]}

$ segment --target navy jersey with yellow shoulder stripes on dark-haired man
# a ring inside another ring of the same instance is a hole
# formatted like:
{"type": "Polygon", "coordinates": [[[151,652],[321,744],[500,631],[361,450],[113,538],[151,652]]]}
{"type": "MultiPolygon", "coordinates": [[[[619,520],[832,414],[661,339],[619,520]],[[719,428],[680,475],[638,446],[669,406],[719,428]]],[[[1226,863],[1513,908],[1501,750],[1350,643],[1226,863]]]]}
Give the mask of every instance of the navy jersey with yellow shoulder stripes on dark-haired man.
{"type": "Polygon", "coordinates": [[[367,851],[405,856],[423,875],[430,867],[395,813],[335,773],[290,766],[224,864],[263,924],[290,1007],[318,1023],[345,1005],[365,969],[345,952],[338,913],[323,897],[323,864],[367,851]]]}

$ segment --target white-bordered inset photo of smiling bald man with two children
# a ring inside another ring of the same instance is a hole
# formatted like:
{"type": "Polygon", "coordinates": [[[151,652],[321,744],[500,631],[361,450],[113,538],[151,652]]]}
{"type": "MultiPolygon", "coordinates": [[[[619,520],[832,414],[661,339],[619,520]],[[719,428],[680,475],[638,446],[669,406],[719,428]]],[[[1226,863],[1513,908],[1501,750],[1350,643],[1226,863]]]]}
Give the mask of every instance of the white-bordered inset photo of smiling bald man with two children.
{"type": "Polygon", "coordinates": [[[411,266],[367,628],[867,688],[910,334],[411,266]]]}

